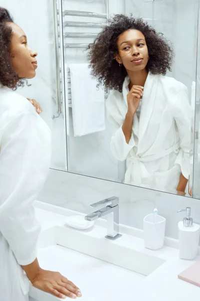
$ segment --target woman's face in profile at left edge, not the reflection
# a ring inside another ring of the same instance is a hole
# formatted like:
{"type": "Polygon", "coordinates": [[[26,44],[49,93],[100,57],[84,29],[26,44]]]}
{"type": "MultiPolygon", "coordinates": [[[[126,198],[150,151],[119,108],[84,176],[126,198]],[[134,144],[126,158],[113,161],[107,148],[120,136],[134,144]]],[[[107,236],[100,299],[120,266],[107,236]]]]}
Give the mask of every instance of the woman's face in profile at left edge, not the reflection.
{"type": "Polygon", "coordinates": [[[26,35],[18,25],[9,22],[8,26],[12,29],[10,54],[14,71],[19,78],[33,78],[37,53],[28,47],[26,35]]]}

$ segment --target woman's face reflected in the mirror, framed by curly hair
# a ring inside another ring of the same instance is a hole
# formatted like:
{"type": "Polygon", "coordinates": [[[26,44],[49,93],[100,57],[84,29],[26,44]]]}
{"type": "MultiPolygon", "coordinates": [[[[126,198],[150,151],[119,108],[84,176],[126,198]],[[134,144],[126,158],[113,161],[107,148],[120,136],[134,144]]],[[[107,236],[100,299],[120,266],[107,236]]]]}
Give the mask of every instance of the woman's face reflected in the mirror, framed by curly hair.
{"type": "Polygon", "coordinates": [[[118,54],[115,59],[122,63],[128,71],[138,71],[146,67],[148,49],[143,34],[135,29],[129,29],[118,36],[118,54]]]}

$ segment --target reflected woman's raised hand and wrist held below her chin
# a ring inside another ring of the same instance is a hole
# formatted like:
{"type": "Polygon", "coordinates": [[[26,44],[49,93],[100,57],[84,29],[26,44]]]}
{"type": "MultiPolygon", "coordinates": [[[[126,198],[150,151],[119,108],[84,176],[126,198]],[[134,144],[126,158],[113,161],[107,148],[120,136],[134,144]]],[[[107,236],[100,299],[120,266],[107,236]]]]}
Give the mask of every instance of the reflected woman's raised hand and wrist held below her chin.
{"type": "Polygon", "coordinates": [[[133,85],[127,94],[127,114],[133,116],[139,106],[140,97],[143,95],[143,87],[133,85]]]}

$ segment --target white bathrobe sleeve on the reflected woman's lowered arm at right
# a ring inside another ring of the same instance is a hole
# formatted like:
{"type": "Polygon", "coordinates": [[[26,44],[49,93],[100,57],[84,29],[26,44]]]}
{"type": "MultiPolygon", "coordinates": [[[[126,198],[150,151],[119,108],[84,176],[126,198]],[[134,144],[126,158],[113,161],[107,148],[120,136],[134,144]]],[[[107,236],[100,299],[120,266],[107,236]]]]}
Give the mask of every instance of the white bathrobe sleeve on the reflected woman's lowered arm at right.
{"type": "Polygon", "coordinates": [[[181,85],[179,89],[172,113],[177,125],[180,141],[180,150],[175,164],[180,167],[182,175],[188,179],[189,153],[192,149],[192,113],[191,106],[188,101],[188,91],[184,85],[181,85]]]}

